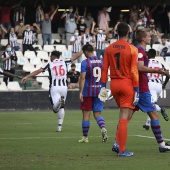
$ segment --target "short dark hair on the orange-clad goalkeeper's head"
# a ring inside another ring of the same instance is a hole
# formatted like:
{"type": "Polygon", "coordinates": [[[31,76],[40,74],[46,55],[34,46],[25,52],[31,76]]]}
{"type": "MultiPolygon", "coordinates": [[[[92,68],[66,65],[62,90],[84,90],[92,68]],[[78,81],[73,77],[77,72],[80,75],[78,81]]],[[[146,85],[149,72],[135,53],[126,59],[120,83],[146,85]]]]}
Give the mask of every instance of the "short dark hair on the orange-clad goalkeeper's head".
{"type": "Polygon", "coordinates": [[[121,22],[117,26],[117,32],[119,37],[125,37],[129,32],[129,26],[125,22],[121,22]]]}

